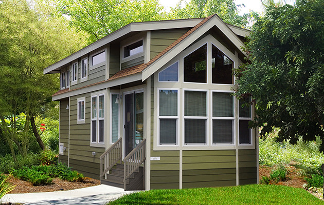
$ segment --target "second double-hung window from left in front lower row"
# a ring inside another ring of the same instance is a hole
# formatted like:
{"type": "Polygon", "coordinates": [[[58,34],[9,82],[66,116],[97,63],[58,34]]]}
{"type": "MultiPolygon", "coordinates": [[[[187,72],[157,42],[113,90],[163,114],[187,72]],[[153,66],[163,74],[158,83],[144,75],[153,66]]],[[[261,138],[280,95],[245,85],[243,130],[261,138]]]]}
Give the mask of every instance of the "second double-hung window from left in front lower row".
{"type": "Polygon", "coordinates": [[[207,92],[185,90],[185,145],[207,144],[207,92]]]}

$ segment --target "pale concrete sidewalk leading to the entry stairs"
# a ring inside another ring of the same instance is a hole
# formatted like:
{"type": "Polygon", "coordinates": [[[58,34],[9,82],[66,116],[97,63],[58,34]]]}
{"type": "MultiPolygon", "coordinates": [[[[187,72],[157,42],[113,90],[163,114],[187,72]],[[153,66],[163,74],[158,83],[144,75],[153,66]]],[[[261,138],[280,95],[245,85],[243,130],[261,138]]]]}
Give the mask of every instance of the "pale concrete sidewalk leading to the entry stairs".
{"type": "Polygon", "coordinates": [[[105,204],[133,192],[107,185],[98,185],[60,192],[7,194],[0,199],[0,202],[13,204],[105,204]]]}

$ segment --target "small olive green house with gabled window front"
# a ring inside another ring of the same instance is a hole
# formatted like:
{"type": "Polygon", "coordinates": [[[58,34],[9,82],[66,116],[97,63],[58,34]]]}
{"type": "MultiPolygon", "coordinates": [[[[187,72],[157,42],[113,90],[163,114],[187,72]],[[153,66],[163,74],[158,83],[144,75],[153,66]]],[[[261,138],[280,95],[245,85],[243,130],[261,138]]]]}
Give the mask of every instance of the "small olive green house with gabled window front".
{"type": "Polygon", "coordinates": [[[254,109],[231,95],[248,34],[217,15],[131,23],[45,68],[59,160],[125,190],[258,183],[254,109]]]}

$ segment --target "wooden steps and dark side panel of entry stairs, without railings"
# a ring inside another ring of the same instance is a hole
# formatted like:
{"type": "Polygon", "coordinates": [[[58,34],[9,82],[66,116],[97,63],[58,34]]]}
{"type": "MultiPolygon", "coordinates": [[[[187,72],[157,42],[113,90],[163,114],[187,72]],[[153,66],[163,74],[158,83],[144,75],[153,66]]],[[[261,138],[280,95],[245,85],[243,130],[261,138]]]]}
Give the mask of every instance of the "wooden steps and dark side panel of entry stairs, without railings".
{"type": "MultiPolygon", "coordinates": [[[[143,190],[144,189],[144,169],[139,167],[126,179],[126,190],[143,190]]],[[[111,169],[111,173],[106,175],[106,179],[102,179],[103,185],[124,188],[124,165],[117,163],[111,169]]]]}

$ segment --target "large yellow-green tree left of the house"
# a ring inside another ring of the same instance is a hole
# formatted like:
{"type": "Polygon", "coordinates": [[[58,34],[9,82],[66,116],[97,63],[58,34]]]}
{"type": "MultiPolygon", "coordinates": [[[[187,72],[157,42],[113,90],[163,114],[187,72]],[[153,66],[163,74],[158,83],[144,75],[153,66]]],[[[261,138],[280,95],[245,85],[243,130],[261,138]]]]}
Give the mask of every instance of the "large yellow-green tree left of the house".
{"type": "MultiPolygon", "coordinates": [[[[85,45],[86,36],[53,11],[39,2],[0,2],[0,126],[14,158],[12,142],[25,156],[30,123],[35,128],[35,117],[54,105],[59,76],[43,75],[43,69],[85,45]],[[21,113],[24,123],[17,121],[21,113]]],[[[34,134],[42,146],[37,129],[34,134]]]]}

